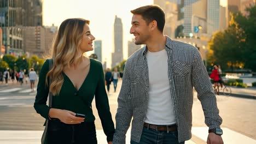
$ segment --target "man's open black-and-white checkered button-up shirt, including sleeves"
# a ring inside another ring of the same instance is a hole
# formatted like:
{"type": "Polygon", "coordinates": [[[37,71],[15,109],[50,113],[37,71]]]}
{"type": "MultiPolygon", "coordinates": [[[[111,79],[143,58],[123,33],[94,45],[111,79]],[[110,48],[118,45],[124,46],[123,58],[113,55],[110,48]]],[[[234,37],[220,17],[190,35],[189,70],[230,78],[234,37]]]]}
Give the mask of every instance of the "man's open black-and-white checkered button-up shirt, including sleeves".
{"type": "MultiPolygon", "coordinates": [[[[179,142],[191,139],[193,87],[201,101],[206,125],[209,129],[219,128],[222,118],[219,116],[216,96],[200,52],[192,45],[168,37],[165,50],[168,55],[167,73],[179,142]]],[[[146,52],[147,47],[144,46],[127,59],[118,96],[118,110],[115,116],[117,125],[113,144],[125,143],[131,119],[131,140],[139,142],[141,139],[149,97],[146,52]]]]}

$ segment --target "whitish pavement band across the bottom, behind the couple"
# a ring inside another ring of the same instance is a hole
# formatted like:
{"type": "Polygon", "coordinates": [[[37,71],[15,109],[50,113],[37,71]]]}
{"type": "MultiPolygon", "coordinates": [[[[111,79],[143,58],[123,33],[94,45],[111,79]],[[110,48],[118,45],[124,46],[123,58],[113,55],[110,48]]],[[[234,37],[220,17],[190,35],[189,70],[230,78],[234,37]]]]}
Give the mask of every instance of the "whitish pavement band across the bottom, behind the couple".
{"type": "MultiPolygon", "coordinates": [[[[228,128],[222,128],[225,133],[222,135],[224,143],[250,143],[256,144],[256,140],[251,139],[245,135],[232,131],[228,128]]],[[[193,136],[198,137],[199,142],[195,143],[193,140],[185,141],[185,144],[202,144],[206,143],[208,127],[193,127],[193,136]]],[[[103,130],[97,130],[98,144],[107,143],[106,135],[103,130]]],[[[126,134],[126,143],[130,143],[130,129],[126,134]]],[[[0,130],[0,143],[1,144],[40,144],[40,139],[43,134],[41,130],[0,130]]],[[[198,140],[197,140],[198,141],[198,140]]]]}

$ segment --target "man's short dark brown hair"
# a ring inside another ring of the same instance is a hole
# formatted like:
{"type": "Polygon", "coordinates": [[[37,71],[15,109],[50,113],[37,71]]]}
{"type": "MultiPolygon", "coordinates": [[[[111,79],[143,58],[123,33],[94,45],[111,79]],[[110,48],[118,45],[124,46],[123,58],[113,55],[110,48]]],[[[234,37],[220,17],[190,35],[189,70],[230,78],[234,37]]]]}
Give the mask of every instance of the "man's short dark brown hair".
{"type": "Polygon", "coordinates": [[[158,29],[160,32],[164,31],[165,27],[165,13],[159,5],[146,5],[143,7],[139,7],[137,9],[131,10],[132,14],[141,15],[143,19],[147,22],[147,25],[156,21],[158,23],[158,29]]]}

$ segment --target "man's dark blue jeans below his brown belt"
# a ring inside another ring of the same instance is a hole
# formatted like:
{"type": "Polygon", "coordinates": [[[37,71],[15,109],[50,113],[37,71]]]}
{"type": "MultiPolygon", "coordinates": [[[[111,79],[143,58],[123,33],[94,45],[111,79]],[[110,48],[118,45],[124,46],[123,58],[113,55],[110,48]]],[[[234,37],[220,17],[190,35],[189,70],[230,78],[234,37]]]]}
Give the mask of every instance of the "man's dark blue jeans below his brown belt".
{"type": "Polygon", "coordinates": [[[178,131],[156,131],[154,129],[143,128],[141,140],[139,142],[131,141],[131,144],[184,144],[179,143],[178,131]]]}

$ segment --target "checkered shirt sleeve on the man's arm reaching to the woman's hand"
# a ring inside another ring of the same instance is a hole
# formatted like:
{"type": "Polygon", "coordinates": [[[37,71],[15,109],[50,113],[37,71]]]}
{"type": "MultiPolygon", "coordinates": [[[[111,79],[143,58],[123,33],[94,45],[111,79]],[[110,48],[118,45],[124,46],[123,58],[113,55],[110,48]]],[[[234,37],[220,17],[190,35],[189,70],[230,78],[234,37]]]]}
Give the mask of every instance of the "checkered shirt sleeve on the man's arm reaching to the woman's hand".
{"type": "Polygon", "coordinates": [[[125,135],[131,123],[131,80],[129,70],[129,62],[127,61],[124,69],[121,91],[118,96],[118,109],[117,114],[115,115],[116,128],[113,137],[113,144],[125,144],[125,135]]]}

